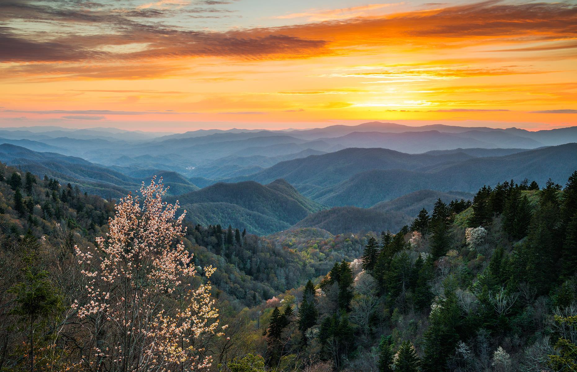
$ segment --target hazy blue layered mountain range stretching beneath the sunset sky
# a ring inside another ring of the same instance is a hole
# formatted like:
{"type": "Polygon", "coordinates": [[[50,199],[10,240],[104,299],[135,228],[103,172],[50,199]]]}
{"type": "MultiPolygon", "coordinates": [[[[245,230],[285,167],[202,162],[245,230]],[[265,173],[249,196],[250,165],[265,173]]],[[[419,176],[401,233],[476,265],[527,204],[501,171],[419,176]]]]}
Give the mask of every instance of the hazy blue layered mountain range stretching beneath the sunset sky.
{"type": "Polygon", "coordinates": [[[0,161],[106,198],[153,175],[188,219],[271,234],[313,227],[333,234],[396,231],[483,185],[544,184],[577,168],[577,127],[516,128],[370,122],[309,130],[200,130],[182,134],[106,128],[0,130],[0,161]]]}

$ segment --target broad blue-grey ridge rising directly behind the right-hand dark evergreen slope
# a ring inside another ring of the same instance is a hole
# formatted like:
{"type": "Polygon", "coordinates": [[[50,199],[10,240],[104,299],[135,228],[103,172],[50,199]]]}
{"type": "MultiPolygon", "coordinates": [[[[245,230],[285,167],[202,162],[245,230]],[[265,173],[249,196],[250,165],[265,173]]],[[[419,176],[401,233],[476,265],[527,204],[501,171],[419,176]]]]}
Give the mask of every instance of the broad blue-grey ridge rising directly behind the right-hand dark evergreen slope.
{"type": "Polygon", "coordinates": [[[368,207],[421,189],[474,192],[484,183],[494,185],[506,178],[527,177],[539,183],[549,176],[566,179],[576,163],[575,143],[492,157],[349,148],[283,161],[246,178],[283,178],[314,201],[368,207]]]}

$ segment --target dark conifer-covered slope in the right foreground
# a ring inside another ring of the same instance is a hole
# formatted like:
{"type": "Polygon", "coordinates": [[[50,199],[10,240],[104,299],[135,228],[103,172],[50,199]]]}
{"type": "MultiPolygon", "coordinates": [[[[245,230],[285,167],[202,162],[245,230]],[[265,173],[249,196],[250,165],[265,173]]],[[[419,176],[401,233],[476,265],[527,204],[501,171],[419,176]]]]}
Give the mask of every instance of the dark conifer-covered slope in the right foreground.
{"type": "Polygon", "coordinates": [[[268,324],[245,337],[265,341],[257,370],[574,370],[577,171],[541,186],[437,200],[410,227],[369,235],[358,260],[255,307],[268,324]]]}

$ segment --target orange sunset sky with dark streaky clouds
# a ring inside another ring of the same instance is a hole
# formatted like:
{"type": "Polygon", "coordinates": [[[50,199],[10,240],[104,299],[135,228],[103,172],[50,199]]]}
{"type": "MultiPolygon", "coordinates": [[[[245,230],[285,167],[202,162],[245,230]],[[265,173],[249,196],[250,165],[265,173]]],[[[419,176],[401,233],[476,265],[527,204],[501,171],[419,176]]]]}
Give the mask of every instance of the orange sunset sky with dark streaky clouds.
{"type": "Polygon", "coordinates": [[[577,0],[2,0],[0,127],[577,125],[577,0]]]}

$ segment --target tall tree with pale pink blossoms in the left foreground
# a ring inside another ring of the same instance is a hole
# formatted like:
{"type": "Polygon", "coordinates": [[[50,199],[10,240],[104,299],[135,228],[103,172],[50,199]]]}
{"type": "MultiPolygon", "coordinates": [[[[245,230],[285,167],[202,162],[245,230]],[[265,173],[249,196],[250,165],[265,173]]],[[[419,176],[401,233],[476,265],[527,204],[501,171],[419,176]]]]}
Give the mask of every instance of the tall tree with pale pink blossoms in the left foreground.
{"type": "Polygon", "coordinates": [[[196,275],[192,254],[180,240],[178,202],[162,202],[162,178],[144,182],[142,200],[129,194],[116,205],[110,231],[96,250],[76,247],[85,277],[78,311],[90,337],[85,366],[106,371],[190,371],[211,365],[204,341],[219,330],[208,281],[196,275]],[[196,283],[196,285],[195,285],[196,283]]]}

